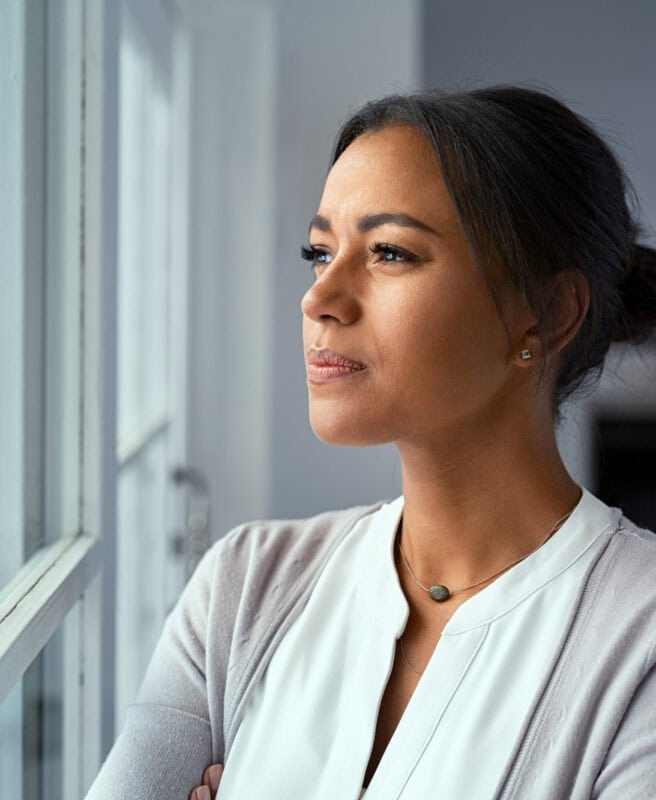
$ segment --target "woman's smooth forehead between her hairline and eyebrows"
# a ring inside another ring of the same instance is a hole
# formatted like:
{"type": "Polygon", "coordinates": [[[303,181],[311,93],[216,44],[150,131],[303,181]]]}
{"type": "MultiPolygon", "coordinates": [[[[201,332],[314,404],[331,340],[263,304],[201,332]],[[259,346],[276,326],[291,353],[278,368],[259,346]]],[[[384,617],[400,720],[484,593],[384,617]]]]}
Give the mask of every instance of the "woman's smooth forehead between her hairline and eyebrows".
{"type": "Polygon", "coordinates": [[[437,155],[410,126],[365,133],[330,170],[319,213],[331,220],[406,213],[442,229],[460,227],[437,155]]]}

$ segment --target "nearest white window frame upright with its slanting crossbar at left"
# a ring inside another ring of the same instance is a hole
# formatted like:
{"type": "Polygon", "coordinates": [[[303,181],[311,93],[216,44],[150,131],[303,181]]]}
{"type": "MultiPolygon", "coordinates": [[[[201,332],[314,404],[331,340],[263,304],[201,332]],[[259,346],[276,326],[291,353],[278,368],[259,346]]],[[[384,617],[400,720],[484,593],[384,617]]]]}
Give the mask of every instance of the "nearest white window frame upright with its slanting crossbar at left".
{"type": "MultiPolygon", "coordinates": [[[[75,603],[82,601],[79,658],[84,681],[77,741],[72,748],[76,763],[64,765],[65,772],[77,776],[75,794],[80,796],[114,737],[113,653],[107,651],[113,650],[115,571],[115,176],[120,12],[113,0],[82,0],[81,6],[81,525],[74,534],[39,549],[8,585],[0,587],[0,702],[75,603]]],[[[22,541],[23,531],[17,531],[17,536],[22,541]]]]}

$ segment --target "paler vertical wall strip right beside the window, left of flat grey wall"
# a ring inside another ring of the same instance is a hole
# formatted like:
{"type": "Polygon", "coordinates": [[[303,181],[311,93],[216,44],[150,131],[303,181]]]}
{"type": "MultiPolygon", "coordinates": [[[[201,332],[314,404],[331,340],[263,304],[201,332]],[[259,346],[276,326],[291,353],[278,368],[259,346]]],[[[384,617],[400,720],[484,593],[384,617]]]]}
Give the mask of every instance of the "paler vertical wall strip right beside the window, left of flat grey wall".
{"type": "Polygon", "coordinates": [[[268,2],[193,0],[189,463],[210,534],[269,516],[276,27],[268,2]]]}

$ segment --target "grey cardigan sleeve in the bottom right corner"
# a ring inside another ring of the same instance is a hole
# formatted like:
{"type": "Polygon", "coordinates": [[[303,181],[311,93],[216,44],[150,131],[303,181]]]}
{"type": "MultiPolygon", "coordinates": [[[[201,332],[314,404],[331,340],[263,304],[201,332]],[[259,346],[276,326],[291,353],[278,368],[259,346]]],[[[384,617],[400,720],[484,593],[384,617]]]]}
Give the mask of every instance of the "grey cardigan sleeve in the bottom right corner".
{"type": "Polygon", "coordinates": [[[591,800],[656,800],[656,666],[627,708],[591,800]]]}

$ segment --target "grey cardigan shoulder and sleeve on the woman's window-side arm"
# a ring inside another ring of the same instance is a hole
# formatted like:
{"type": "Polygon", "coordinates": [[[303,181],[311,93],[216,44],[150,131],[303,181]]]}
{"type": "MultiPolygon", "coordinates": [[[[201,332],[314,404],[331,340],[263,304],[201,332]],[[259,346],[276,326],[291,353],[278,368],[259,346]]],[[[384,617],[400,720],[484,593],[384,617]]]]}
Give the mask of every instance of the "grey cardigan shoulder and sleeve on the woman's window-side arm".
{"type": "Polygon", "coordinates": [[[277,642],[334,549],[378,507],[249,523],[212,547],[166,622],[87,800],[181,800],[208,765],[225,763],[277,642]]]}

